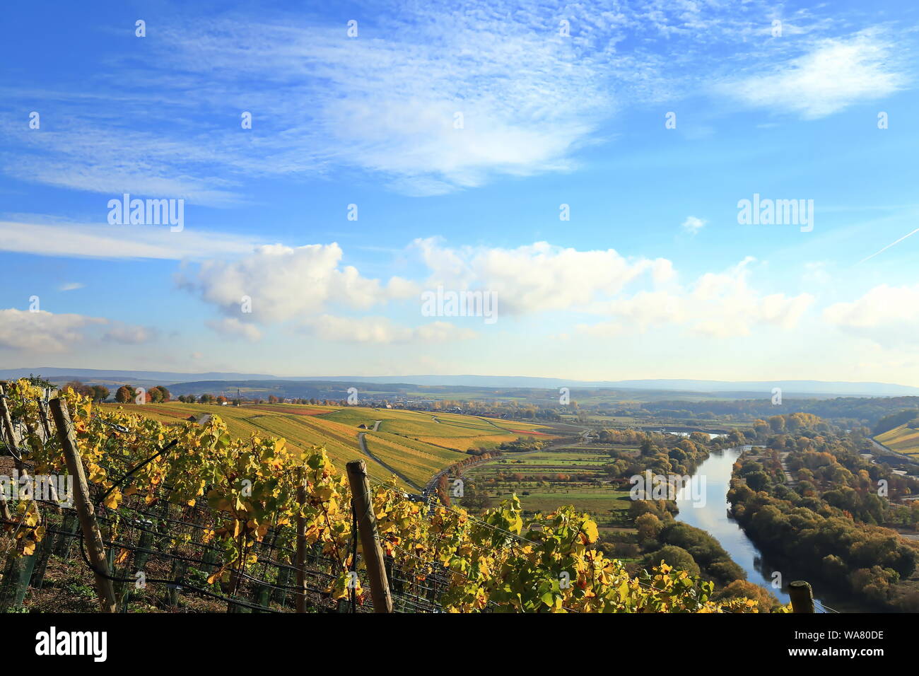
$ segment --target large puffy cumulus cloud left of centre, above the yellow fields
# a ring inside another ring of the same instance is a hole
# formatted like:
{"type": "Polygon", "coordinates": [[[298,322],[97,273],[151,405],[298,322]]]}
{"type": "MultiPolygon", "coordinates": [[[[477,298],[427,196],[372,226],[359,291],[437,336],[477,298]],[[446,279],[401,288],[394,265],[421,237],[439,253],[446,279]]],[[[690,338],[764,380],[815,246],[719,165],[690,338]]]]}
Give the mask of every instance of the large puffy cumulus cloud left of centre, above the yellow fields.
{"type": "Polygon", "coordinates": [[[342,256],[335,243],[258,246],[237,260],[206,260],[178,281],[229,316],[238,316],[246,304],[252,321],[266,324],[314,315],[328,304],[366,310],[416,293],[398,277],[386,284],[363,277],[357,268],[341,266],[342,256]]]}

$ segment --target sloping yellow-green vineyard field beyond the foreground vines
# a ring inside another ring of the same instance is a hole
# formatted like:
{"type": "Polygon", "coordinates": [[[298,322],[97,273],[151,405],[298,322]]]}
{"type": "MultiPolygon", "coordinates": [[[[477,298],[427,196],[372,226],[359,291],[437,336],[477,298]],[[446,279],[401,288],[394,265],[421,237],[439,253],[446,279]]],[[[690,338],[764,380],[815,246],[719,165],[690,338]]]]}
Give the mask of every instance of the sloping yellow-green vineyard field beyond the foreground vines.
{"type": "MultiPolygon", "coordinates": [[[[165,424],[176,424],[205,413],[220,416],[230,433],[238,439],[247,439],[253,433],[262,436],[284,437],[290,445],[309,448],[322,445],[329,457],[339,467],[349,460],[363,458],[369,472],[380,477],[389,476],[388,465],[423,487],[427,480],[448,464],[467,457],[469,448],[492,448],[503,441],[521,437],[543,438],[544,428],[509,420],[404,411],[370,407],[324,407],[296,404],[268,404],[260,406],[222,407],[208,404],[103,404],[103,407],[122,407],[165,424]],[[380,420],[378,430],[373,430],[380,420]],[[366,429],[359,426],[364,425],[366,429]],[[365,435],[370,454],[380,463],[363,453],[359,435],[365,435]]],[[[403,487],[411,487],[402,479],[403,487]]]]}

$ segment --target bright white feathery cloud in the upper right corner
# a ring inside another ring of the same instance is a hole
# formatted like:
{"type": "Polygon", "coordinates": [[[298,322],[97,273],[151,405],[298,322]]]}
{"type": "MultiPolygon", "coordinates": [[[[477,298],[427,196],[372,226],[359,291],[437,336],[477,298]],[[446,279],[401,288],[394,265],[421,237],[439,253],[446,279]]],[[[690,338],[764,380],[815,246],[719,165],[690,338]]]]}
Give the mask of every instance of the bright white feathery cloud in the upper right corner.
{"type": "Polygon", "coordinates": [[[905,79],[895,70],[895,54],[891,40],[867,29],[848,38],[819,40],[803,56],[720,88],[750,106],[821,118],[900,89],[905,79]]]}

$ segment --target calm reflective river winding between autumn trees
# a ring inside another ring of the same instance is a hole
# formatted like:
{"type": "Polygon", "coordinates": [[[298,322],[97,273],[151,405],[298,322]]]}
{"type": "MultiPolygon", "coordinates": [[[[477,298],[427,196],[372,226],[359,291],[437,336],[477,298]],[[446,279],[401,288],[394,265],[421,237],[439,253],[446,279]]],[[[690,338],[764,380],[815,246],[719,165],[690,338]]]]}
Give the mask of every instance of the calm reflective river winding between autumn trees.
{"type": "MultiPolygon", "coordinates": [[[[740,525],[728,513],[727,495],[731,487],[731,472],[734,462],[742,452],[742,448],[714,451],[702,464],[699,464],[696,476],[705,477],[705,503],[702,505],[700,501],[699,505],[696,505],[689,496],[689,489],[686,488],[677,495],[676,506],[680,511],[676,519],[708,532],[731,555],[734,563],[746,571],[748,581],[769,590],[780,602],[788,603],[788,593],[773,586],[773,572],[782,571],[783,587],[799,578],[793,577],[793,571],[787,570],[787,567],[770,567],[756,545],[743,533],[740,525]]],[[[819,593],[816,589],[814,597],[818,602],[840,612],[866,612],[864,609],[854,607],[851,602],[819,593]]]]}

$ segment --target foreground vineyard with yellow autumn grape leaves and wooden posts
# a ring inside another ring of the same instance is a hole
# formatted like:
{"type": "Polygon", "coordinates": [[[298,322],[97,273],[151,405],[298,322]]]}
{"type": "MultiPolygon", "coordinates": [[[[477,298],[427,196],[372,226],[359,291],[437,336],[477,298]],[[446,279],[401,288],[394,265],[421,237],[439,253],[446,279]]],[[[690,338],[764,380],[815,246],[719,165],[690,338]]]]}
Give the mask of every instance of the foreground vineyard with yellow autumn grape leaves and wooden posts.
{"type": "MultiPolygon", "coordinates": [[[[53,571],[73,567],[108,613],[758,610],[714,602],[711,582],[665,565],[631,577],[573,508],[525,518],[511,496],[476,517],[356,458],[346,471],[322,446],[241,439],[218,415],[166,424],[26,380],[0,402],[0,474],[36,487],[13,494],[7,482],[0,499],[3,610],[29,610],[53,571]]],[[[390,453],[411,450],[398,422],[383,432],[390,453]]]]}

